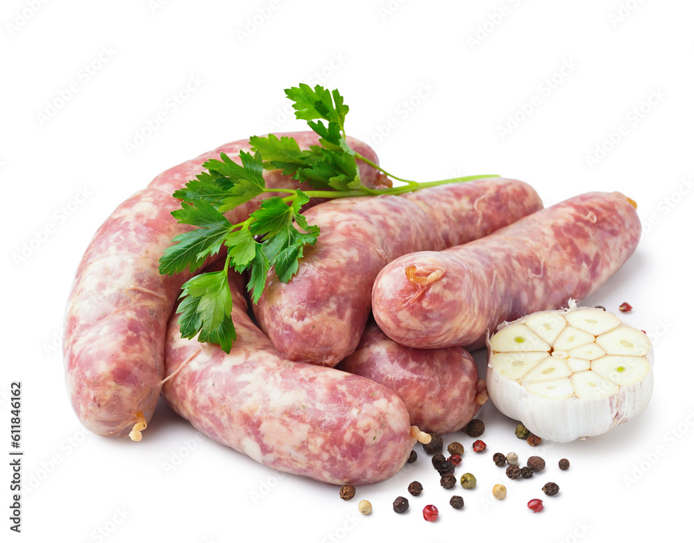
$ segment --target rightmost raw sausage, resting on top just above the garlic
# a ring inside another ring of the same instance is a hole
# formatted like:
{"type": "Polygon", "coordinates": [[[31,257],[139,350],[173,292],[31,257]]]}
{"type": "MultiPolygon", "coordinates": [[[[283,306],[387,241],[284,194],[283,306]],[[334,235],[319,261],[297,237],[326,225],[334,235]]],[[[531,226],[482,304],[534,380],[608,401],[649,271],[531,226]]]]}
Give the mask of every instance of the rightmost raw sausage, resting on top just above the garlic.
{"type": "Polygon", "coordinates": [[[476,349],[502,321],[594,292],[640,235],[635,206],[623,194],[582,194],[480,240],[393,260],[373,285],[373,315],[407,346],[476,349]]]}

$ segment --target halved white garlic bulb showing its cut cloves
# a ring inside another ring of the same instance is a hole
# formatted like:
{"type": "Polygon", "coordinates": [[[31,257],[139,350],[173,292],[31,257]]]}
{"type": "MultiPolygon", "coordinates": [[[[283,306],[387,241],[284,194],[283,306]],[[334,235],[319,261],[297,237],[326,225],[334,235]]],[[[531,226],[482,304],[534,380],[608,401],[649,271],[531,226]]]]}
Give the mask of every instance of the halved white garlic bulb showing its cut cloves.
{"type": "Polygon", "coordinates": [[[543,440],[564,443],[601,435],[636,417],[648,406],[654,385],[652,346],[643,332],[623,324],[615,315],[599,309],[578,308],[572,300],[568,309],[521,317],[501,324],[497,333],[504,329],[507,331],[497,340],[496,334],[487,338],[489,364],[486,385],[489,398],[500,412],[523,422],[528,430],[543,440]],[[578,311],[582,313],[571,315],[578,311]],[[577,324],[574,316],[587,316],[591,324],[577,324]],[[525,324],[530,317],[531,322],[548,322],[546,333],[544,329],[540,331],[544,337],[527,329],[525,324]],[[559,323],[557,317],[564,317],[566,324],[559,323]],[[521,327],[507,329],[518,324],[521,327]],[[589,340],[588,335],[584,335],[585,330],[571,333],[573,326],[592,326],[589,335],[593,343],[585,343],[589,340]],[[593,333],[598,335],[597,339],[593,333]],[[601,346],[602,335],[606,335],[607,341],[603,341],[601,346]],[[583,342],[570,349],[571,354],[595,358],[572,358],[564,349],[568,338],[583,342]],[[627,339],[620,343],[621,338],[627,339]],[[555,340],[562,349],[553,349],[555,340]],[[521,350],[514,351],[516,347],[521,350]],[[515,357],[517,352],[522,354],[515,357]],[[511,362],[514,358],[517,360],[511,362]],[[592,367],[597,371],[592,371],[592,367]],[[606,371],[606,367],[614,369],[606,371]],[[543,373],[551,378],[537,381],[543,373]],[[530,381],[525,382],[528,375],[530,381]]]}

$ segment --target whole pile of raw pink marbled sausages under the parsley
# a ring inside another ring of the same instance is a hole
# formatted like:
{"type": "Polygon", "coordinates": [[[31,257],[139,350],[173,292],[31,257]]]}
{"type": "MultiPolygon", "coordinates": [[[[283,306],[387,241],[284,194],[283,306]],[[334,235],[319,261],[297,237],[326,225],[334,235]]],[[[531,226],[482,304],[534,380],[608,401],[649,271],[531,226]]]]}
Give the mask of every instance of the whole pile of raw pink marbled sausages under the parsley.
{"type": "MultiPolygon", "coordinates": [[[[317,140],[291,136],[302,147],[317,140]]],[[[587,296],[638,242],[621,194],[543,209],[532,187],[505,178],[326,201],[305,212],[321,235],[296,276],[269,273],[252,308],[257,326],[243,278],[230,272],[237,341],[226,354],[180,337],[173,309],[190,274],[161,276],[158,259],[189,228],[171,217],[180,206],[171,194],[205,160],[241,149],[246,140],[160,174],[87,248],[67,306],[65,369],[91,431],[139,440],[162,394],[205,435],[264,465],[336,484],[383,481],[427,439],[420,428],[459,430],[486,401],[465,346],[501,321],[587,296]]],[[[384,183],[359,167],[364,185],[384,183]]]]}

